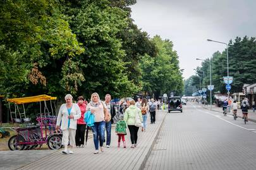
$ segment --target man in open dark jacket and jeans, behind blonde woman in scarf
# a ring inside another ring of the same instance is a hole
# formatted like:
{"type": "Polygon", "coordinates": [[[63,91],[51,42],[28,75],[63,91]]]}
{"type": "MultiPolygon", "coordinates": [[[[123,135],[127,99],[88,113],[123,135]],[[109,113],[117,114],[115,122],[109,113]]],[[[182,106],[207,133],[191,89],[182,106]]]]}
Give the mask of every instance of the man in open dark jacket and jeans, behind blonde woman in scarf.
{"type": "Polygon", "coordinates": [[[106,122],[106,132],[107,132],[107,143],[106,147],[110,147],[111,142],[111,124],[114,123],[113,118],[116,115],[116,109],[114,105],[111,103],[111,95],[106,94],[104,103],[107,106],[107,110],[111,113],[111,121],[106,122]]]}

